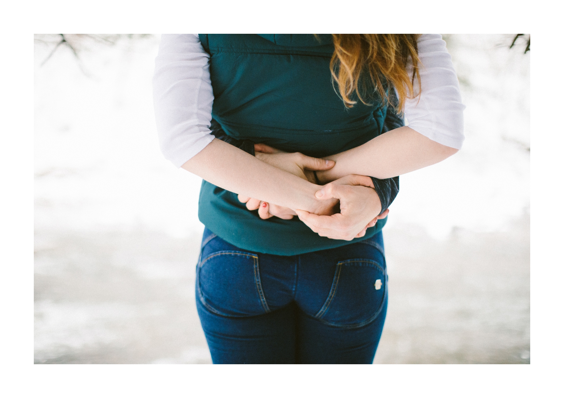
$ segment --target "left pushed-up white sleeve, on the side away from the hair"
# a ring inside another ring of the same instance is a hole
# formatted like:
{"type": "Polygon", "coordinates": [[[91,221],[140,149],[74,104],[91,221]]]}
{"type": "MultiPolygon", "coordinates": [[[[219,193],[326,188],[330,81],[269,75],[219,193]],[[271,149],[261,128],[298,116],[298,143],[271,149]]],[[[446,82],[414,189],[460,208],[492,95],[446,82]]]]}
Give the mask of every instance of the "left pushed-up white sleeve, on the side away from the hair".
{"type": "Polygon", "coordinates": [[[153,101],[161,152],[175,166],[182,166],[213,141],[209,54],[197,35],[162,35],[153,101]]]}

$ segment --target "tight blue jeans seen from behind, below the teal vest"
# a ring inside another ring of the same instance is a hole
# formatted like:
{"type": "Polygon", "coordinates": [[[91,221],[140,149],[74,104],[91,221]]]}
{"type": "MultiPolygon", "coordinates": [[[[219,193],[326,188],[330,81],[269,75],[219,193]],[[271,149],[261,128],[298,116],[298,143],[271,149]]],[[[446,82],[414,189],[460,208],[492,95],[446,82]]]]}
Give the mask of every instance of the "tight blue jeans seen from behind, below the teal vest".
{"type": "Polygon", "coordinates": [[[214,364],[371,364],[387,308],[382,233],[280,256],[206,228],[196,305],[214,364]]]}

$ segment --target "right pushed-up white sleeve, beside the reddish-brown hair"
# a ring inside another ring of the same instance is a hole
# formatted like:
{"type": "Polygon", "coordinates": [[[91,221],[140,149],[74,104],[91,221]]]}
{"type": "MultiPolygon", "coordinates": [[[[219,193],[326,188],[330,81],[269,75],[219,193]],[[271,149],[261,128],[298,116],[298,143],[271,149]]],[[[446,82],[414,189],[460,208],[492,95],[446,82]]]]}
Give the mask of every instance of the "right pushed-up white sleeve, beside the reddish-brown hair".
{"type": "MultiPolygon", "coordinates": [[[[439,144],[460,149],[464,141],[462,111],[466,107],[447,43],[440,34],[422,34],[417,47],[421,96],[406,100],[404,112],[409,127],[439,144]]],[[[409,64],[409,76],[412,70],[409,64]]]]}

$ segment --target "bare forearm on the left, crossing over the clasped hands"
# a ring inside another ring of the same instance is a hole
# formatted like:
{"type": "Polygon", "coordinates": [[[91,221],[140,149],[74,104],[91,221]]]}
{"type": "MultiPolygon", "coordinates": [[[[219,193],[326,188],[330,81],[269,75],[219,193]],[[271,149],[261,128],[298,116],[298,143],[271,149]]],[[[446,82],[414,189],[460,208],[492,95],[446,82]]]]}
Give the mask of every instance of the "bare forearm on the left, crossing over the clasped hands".
{"type": "Polygon", "coordinates": [[[289,207],[315,212],[319,185],[277,169],[240,149],[214,139],[182,165],[204,180],[227,191],[289,207]]]}

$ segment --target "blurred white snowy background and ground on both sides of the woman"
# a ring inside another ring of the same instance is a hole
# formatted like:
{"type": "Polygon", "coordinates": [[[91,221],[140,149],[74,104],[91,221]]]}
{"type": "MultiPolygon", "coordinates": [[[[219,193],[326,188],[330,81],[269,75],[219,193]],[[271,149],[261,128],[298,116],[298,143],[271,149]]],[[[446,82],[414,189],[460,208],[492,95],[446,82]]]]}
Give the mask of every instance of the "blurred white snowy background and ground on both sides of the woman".
{"type": "MultiPolygon", "coordinates": [[[[445,35],[466,141],[402,176],[375,363],[529,363],[529,65],[445,35]]],[[[158,35],[35,41],[36,363],[209,363],[193,298],[201,179],[162,158],[158,35]]]]}

